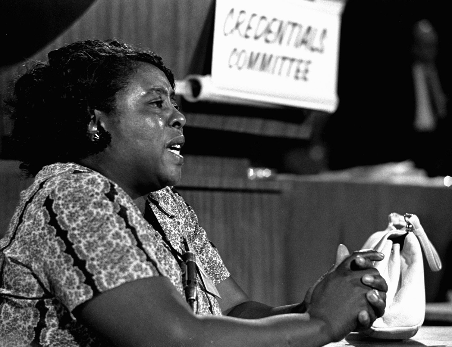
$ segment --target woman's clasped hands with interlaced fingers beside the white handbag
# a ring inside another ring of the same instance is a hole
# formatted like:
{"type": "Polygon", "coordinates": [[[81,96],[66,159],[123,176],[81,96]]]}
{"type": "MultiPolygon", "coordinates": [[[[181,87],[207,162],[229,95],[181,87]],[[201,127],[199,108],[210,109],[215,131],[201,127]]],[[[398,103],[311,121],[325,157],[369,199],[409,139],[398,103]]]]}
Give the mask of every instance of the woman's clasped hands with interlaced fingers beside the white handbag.
{"type": "Polygon", "coordinates": [[[388,287],[372,266],[383,258],[384,254],[375,250],[350,254],[339,245],[333,267],[306,293],[306,312],[325,321],[334,341],[351,331],[370,328],[384,314],[388,287]]]}

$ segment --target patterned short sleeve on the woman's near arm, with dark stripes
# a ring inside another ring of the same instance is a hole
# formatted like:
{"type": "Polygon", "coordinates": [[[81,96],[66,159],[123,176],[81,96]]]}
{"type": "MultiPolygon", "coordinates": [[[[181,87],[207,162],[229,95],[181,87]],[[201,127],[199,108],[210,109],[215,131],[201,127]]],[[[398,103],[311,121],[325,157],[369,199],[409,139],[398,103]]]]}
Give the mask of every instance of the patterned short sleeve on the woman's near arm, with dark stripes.
{"type": "Polygon", "coordinates": [[[93,173],[59,176],[48,185],[42,233],[49,246],[42,271],[70,311],[125,282],[159,275],[142,245],[146,233],[136,223],[138,210],[122,190],[93,173]]]}

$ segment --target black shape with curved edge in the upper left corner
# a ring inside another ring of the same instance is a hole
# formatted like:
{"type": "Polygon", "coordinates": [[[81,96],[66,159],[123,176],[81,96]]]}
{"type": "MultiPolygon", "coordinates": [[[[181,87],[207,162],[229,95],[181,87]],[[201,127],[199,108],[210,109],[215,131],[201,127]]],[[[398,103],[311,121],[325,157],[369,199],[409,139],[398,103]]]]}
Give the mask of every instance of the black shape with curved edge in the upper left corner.
{"type": "MultiPolygon", "coordinates": [[[[96,0],[2,0],[0,1],[0,158],[11,159],[8,134],[11,123],[5,115],[7,88],[20,64],[63,33],[96,0]]],[[[22,69],[23,70],[23,69],[22,69]]],[[[22,71],[23,72],[23,71],[22,71]]]]}

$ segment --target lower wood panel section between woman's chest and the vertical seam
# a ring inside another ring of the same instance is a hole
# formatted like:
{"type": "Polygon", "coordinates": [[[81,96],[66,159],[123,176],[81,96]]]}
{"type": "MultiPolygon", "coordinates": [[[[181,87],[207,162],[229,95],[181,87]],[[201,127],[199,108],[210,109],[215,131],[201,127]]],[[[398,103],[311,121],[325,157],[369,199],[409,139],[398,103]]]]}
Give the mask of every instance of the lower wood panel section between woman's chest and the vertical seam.
{"type": "Polygon", "coordinates": [[[281,193],[179,189],[220,250],[235,281],[253,300],[283,305],[285,226],[281,193]]]}

